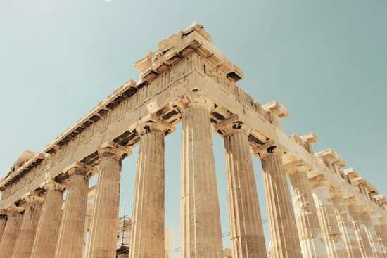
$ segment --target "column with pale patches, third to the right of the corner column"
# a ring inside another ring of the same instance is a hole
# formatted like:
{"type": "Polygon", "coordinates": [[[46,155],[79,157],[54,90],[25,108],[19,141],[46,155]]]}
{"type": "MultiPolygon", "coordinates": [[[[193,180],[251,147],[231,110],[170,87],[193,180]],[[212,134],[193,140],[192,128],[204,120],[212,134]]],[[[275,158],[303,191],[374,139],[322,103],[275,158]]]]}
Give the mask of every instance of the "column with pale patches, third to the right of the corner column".
{"type": "Polygon", "coordinates": [[[286,169],[291,183],[298,237],[304,258],[325,258],[327,255],[324,238],[307,177],[308,170],[303,165],[286,169]]]}

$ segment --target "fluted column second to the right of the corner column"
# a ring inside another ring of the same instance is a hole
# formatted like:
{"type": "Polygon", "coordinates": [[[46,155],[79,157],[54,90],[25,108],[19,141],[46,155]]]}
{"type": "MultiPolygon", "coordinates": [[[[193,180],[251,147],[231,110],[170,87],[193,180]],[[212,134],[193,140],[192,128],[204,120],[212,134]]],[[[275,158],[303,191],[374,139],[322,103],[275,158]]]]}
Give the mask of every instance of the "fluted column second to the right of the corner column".
{"type": "Polygon", "coordinates": [[[255,152],[262,161],[272,253],[276,258],[302,257],[296,219],[282,164],[283,151],[272,144],[267,144],[255,152]]]}

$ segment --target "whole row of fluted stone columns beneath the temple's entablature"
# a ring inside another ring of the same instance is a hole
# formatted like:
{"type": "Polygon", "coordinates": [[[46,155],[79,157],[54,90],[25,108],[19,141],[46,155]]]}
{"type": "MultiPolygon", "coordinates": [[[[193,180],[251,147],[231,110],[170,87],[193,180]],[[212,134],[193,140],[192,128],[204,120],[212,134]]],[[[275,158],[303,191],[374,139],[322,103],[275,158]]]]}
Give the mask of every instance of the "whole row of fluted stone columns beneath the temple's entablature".
{"type": "MultiPolygon", "coordinates": [[[[182,109],[181,252],[184,258],[222,257],[222,231],[212,149],[213,103],[192,101],[182,109]]],[[[140,137],[132,224],[131,258],[165,257],[164,137],[167,124],[148,122],[140,137]]],[[[217,126],[227,161],[232,257],[267,257],[248,128],[239,122],[217,126]]],[[[385,257],[386,228],[356,205],[347,205],[324,179],[310,183],[303,166],[291,167],[291,195],[284,153],[268,143],[253,150],[262,161],[265,198],[276,258],[385,257]],[[380,255],[379,255],[380,254],[380,255]]],[[[99,150],[99,180],[92,214],[88,258],[113,258],[120,200],[122,158],[128,150],[110,143],[99,150]]],[[[0,218],[0,257],[82,257],[90,169],[75,165],[62,209],[63,186],[46,183],[44,200],[25,199],[24,213],[0,218]],[[4,229],[2,229],[4,228],[4,229]]]]}

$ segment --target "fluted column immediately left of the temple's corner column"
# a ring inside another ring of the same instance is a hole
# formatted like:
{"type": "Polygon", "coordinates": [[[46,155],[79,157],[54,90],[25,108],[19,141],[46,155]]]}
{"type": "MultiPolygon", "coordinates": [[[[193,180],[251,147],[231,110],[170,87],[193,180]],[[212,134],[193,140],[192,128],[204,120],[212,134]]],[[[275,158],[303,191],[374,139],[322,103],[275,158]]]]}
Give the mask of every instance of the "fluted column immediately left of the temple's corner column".
{"type": "Polygon", "coordinates": [[[165,257],[164,133],[141,125],[130,258],[165,257]]]}

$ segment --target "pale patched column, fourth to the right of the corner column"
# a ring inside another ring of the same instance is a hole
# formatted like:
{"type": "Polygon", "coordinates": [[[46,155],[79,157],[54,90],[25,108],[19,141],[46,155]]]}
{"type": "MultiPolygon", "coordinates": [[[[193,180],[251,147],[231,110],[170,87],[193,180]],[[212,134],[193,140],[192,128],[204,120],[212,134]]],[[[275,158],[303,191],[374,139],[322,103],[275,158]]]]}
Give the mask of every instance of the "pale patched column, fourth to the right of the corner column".
{"type": "Polygon", "coordinates": [[[317,217],[325,240],[327,257],[346,257],[347,254],[340,230],[338,229],[334,205],[331,202],[328,182],[323,176],[317,176],[310,179],[310,186],[312,187],[312,196],[313,200],[315,200],[317,217]]]}

